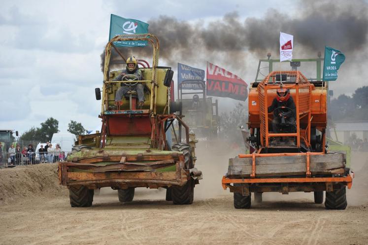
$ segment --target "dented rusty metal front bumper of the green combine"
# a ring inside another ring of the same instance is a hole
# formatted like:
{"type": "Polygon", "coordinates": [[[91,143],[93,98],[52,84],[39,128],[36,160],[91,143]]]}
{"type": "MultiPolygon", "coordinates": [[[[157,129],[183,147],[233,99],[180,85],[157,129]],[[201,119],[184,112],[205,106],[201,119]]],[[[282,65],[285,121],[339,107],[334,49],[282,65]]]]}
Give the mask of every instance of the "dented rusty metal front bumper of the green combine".
{"type": "MultiPolygon", "coordinates": [[[[129,157],[127,158],[129,161],[129,157]]],[[[193,175],[190,170],[184,170],[183,159],[179,155],[177,159],[170,159],[168,156],[164,156],[161,159],[160,156],[155,158],[155,162],[148,164],[141,163],[147,160],[143,157],[140,163],[125,162],[124,159],[124,161],[116,162],[116,164],[104,166],[93,164],[91,159],[88,162],[83,162],[83,160],[78,162],[59,162],[59,183],[68,187],[85,185],[89,189],[106,186],[114,189],[128,187],[158,188],[171,185],[182,186],[193,175]],[[155,171],[155,168],[157,169],[160,166],[171,166],[172,171],[155,171]],[[151,169],[147,169],[147,167],[151,169]]]]}

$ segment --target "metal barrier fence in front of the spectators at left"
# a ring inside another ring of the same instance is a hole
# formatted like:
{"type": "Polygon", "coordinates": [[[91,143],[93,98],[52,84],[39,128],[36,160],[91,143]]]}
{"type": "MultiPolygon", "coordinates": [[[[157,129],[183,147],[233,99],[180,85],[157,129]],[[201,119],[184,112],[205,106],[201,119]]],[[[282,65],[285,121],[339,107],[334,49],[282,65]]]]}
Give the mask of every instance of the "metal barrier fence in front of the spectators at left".
{"type": "Polygon", "coordinates": [[[68,151],[60,152],[32,152],[32,153],[9,153],[0,154],[0,168],[11,168],[14,166],[55,163],[66,161],[68,151]]]}

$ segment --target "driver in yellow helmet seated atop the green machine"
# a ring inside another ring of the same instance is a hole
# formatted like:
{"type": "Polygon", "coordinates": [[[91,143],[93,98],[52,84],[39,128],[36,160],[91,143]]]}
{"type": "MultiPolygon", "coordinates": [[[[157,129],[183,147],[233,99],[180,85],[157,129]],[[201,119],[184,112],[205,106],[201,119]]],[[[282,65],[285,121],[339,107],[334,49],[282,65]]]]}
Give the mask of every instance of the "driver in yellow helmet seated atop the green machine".
{"type": "MultiPolygon", "coordinates": [[[[122,70],[120,75],[118,75],[114,81],[122,81],[125,80],[142,80],[142,71],[138,69],[138,64],[134,56],[131,56],[127,59],[127,69],[122,70]],[[132,76],[130,76],[132,75],[132,76]]],[[[128,84],[128,83],[127,83],[128,84]]],[[[134,83],[132,83],[134,84],[134,83]]],[[[122,86],[116,91],[115,95],[115,105],[120,106],[123,104],[122,98],[125,94],[130,91],[134,90],[137,92],[138,96],[138,106],[144,105],[144,93],[143,93],[143,84],[137,83],[133,86],[128,86],[126,84],[122,84],[122,86]]]]}

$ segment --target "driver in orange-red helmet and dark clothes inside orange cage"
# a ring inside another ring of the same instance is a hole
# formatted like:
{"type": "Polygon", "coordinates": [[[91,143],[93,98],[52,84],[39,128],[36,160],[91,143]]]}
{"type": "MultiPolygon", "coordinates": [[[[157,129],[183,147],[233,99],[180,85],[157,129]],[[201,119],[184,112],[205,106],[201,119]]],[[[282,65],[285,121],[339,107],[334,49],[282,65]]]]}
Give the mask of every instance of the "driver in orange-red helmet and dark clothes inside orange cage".
{"type": "Polygon", "coordinates": [[[288,129],[284,129],[289,133],[295,132],[295,118],[296,109],[293,98],[290,96],[290,90],[285,88],[279,88],[276,92],[276,98],[273,99],[272,105],[268,106],[268,113],[273,111],[272,130],[275,133],[280,133],[282,119],[284,123],[292,125],[288,129]],[[286,108],[282,108],[286,107],[286,108]]]}

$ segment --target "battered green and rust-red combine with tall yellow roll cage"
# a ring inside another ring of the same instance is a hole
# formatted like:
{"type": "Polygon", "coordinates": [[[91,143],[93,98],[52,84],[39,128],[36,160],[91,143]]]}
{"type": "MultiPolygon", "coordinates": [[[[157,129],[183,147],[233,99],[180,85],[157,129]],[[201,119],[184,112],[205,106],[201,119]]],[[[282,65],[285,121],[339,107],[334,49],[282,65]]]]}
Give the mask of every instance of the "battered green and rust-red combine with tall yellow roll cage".
{"type": "Polygon", "coordinates": [[[102,91],[96,88],[96,99],[101,100],[101,132],[79,136],[67,161],[59,162],[59,181],[69,189],[71,207],[92,205],[94,190],[111,187],[118,190],[120,202],[130,202],[137,187],[165,188],[166,200],[173,204],[192,204],[194,187],[201,171],[195,168],[195,135],[182,121],[181,109],[170,102],[173,71],[159,66],[159,40],[155,35],[118,35],[105,48],[102,91]],[[152,65],[137,60],[142,80],[136,77],[114,79],[122,70],[112,70],[114,48],[126,61],[114,42],[143,40],[153,49],[152,65]],[[136,91],[129,90],[122,105],[114,108],[115,94],[120,86],[144,85],[144,105],[136,103],[136,91]],[[101,96],[102,94],[102,96],[101,96]],[[173,123],[180,125],[184,140],[173,131],[173,123]],[[175,137],[171,137],[174,133],[175,137]]]}

